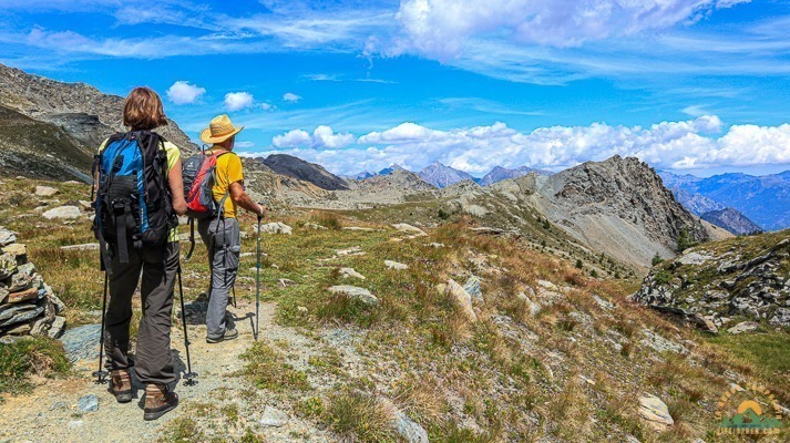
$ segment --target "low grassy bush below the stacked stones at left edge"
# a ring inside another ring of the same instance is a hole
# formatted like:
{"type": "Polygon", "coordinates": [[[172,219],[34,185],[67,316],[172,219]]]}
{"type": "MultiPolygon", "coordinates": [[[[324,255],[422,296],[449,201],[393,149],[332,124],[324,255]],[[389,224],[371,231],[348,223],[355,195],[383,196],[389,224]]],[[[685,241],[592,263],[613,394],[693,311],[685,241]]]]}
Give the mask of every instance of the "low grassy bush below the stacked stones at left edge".
{"type": "Polygon", "coordinates": [[[70,368],[63,346],[48,337],[25,338],[0,346],[0,393],[30,390],[30,374],[63,375],[70,368]]]}

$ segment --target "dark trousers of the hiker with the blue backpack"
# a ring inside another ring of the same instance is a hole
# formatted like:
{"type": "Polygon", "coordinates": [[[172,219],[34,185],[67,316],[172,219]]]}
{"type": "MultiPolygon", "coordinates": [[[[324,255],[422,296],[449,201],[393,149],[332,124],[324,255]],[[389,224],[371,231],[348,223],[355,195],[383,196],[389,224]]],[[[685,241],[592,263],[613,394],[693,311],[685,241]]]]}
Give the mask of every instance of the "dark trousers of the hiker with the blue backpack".
{"type": "Polygon", "coordinates": [[[176,380],[171,356],[171,312],[173,287],[178,270],[178,243],[130,248],[129,262],[112,260],[110,298],[104,327],[106,369],[129,369],[129,327],[132,322],[132,296],[141,280],[143,318],[137,330],[134,372],[143,383],[172,383],[176,380]]]}

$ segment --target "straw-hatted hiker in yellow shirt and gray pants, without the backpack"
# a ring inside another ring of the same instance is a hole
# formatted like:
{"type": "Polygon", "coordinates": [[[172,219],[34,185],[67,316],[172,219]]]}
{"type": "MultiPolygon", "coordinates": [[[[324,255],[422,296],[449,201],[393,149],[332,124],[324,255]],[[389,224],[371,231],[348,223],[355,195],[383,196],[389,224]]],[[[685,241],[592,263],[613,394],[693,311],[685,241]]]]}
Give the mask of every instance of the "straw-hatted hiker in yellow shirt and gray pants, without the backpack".
{"type": "Polygon", "coordinates": [[[218,343],[238,337],[230,319],[226,317],[228,295],[236,281],[238,259],[242,250],[238,207],[257,214],[258,219],[266,214],[266,206],[258,205],[244,190],[242,159],[233,147],[244,126],[235,127],[230,119],[223,114],[214,117],[201,133],[201,141],[212,145],[212,153],[219,153],[216,163],[216,182],[212,188],[214,200],[219,203],[220,215],[197,222],[197,231],[208,249],[208,266],[212,269],[212,289],[208,293],[206,312],[206,341],[218,343]]]}

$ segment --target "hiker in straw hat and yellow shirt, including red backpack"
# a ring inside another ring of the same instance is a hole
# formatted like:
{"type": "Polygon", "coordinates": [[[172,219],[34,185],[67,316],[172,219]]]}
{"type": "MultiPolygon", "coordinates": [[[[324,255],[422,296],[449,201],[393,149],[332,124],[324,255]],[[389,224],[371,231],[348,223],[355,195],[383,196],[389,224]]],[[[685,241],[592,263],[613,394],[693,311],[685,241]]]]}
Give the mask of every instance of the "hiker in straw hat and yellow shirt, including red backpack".
{"type": "MultiPolygon", "coordinates": [[[[184,164],[185,184],[189,189],[186,196],[187,214],[193,220],[197,219],[197,230],[206,245],[212,272],[206,312],[208,343],[238,337],[233,318],[227,313],[242,250],[238,207],[256,214],[258,226],[266,214],[266,206],[253,202],[244,190],[242,159],[233,152],[236,134],[243,128],[234,126],[227,115],[214,117],[201,133],[201,141],[211,148],[184,164]]],[[[258,246],[258,257],[259,249],[258,246]]],[[[192,250],[187,257],[191,255],[192,250]]],[[[257,339],[257,326],[255,334],[257,339]]]]}

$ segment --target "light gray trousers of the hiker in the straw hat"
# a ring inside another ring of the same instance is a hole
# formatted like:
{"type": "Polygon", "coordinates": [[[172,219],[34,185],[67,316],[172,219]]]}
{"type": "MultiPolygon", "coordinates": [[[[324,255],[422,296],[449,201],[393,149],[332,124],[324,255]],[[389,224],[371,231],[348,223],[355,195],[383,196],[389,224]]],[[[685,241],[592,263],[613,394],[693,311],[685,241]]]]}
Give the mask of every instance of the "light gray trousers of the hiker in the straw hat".
{"type": "Polygon", "coordinates": [[[233,328],[225,311],[230,289],[236,282],[242,236],[235,218],[211,218],[198,220],[197,231],[208,249],[208,265],[212,269],[212,289],[206,312],[206,338],[219,339],[226,328],[233,328]]]}

